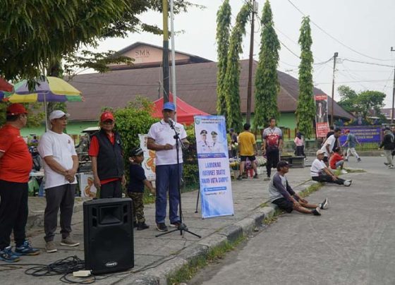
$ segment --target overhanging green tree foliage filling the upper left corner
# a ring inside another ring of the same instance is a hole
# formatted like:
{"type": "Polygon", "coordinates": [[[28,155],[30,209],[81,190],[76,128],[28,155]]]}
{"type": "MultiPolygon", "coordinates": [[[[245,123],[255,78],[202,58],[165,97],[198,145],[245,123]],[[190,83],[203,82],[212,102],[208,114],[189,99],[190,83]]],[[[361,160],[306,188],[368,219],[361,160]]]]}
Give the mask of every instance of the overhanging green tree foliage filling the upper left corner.
{"type": "MultiPolygon", "coordinates": [[[[176,0],[174,5],[177,13],[193,4],[176,0]]],[[[54,59],[76,54],[81,47],[96,47],[100,40],[142,30],[160,33],[138,18],[149,10],[162,11],[162,1],[2,1],[0,74],[8,80],[37,78],[54,59]]],[[[95,57],[91,54],[90,59],[95,57]]]]}

